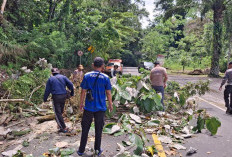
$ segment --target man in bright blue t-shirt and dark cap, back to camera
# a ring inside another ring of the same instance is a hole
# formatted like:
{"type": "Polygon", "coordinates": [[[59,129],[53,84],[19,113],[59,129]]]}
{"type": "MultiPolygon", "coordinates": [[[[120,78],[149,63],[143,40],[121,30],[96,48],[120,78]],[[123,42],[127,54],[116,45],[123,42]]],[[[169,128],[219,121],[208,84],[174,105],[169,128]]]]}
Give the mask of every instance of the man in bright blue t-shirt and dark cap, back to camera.
{"type": "Polygon", "coordinates": [[[83,118],[81,122],[82,134],[79,150],[77,154],[82,156],[87,144],[89,129],[94,118],[95,123],[95,144],[94,149],[97,155],[102,153],[101,149],[101,136],[104,126],[106,106],[106,96],[109,102],[109,111],[112,111],[112,97],[111,97],[111,84],[107,75],[101,73],[104,69],[104,60],[101,57],[96,57],[93,63],[94,71],[85,74],[81,83],[81,100],[80,109],[84,109],[83,118]],[[90,92],[91,91],[91,92],[90,92]],[[88,92],[88,93],[87,93],[88,92]],[[87,97],[85,99],[85,96],[87,97]],[[89,94],[92,99],[89,98],[89,94]],[[84,104],[85,99],[85,106],[84,104]]]}

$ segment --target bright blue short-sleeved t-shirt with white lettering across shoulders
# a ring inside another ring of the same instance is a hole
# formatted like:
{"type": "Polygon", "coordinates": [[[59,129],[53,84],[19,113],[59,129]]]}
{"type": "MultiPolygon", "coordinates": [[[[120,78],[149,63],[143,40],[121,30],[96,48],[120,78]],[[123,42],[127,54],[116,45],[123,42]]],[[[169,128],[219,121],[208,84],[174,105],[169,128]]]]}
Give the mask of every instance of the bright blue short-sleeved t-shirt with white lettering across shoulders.
{"type": "Polygon", "coordinates": [[[93,94],[93,101],[88,101],[85,99],[85,110],[91,112],[106,111],[106,90],[111,90],[110,79],[107,75],[100,73],[96,81],[99,71],[92,71],[84,75],[83,81],[81,83],[82,89],[91,89],[93,94]]]}

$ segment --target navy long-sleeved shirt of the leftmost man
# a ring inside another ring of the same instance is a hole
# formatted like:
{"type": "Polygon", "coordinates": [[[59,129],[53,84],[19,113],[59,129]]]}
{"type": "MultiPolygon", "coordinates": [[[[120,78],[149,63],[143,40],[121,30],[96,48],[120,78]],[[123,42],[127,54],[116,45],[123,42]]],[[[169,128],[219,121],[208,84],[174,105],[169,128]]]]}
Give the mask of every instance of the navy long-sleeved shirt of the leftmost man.
{"type": "Polygon", "coordinates": [[[60,94],[66,94],[66,86],[71,91],[71,96],[74,95],[73,91],[73,84],[69,79],[61,74],[56,74],[54,76],[51,76],[46,84],[46,89],[44,93],[44,102],[47,101],[49,94],[52,95],[60,95],[60,94]],[[59,80],[57,79],[59,78],[59,80]]]}

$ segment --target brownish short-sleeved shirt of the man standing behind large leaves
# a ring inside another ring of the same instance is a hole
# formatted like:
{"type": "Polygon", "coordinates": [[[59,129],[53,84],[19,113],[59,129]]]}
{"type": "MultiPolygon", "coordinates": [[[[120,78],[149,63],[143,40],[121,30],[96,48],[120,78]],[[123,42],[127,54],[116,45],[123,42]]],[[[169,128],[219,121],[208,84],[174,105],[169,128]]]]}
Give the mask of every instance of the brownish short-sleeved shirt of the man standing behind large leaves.
{"type": "Polygon", "coordinates": [[[155,67],[151,70],[151,84],[152,86],[164,86],[164,76],[167,71],[163,67],[155,67]]]}

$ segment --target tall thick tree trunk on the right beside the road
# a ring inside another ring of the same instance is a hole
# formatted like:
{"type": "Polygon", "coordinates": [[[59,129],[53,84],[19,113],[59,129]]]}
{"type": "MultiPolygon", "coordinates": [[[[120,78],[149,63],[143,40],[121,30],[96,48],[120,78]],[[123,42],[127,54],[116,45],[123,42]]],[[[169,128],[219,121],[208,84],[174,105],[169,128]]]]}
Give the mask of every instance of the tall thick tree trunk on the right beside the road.
{"type": "Polygon", "coordinates": [[[219,59],[222,51],[222,23],[223,11],[225,10],[224,0],[215,0],[213,5],[213,54],[211,60],[210,76],[219,77],[219,59]]]}

